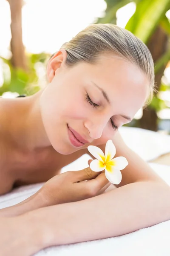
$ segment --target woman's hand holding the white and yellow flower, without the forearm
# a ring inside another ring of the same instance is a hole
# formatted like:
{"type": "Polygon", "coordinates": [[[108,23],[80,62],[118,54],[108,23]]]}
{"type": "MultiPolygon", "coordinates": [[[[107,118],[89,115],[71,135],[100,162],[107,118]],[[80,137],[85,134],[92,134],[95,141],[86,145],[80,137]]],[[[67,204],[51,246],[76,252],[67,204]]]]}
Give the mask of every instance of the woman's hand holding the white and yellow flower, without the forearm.
{"type": "MultiPolygon", "coordinates": [[[[90,165],[92,160],[88,161],[90,165]]],[[[90,167],[69,171],[48,180],[38,191],[44,206],[63,204],[91,198],[110,186],[103,172],[93,172],[90,167]]]]}

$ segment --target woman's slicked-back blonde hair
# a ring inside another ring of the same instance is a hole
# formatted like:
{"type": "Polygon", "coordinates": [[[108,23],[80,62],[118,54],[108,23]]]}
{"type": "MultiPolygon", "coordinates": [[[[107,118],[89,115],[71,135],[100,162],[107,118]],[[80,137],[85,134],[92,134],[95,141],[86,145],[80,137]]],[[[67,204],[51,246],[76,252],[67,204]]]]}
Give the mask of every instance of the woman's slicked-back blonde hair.
{"type": "Polygon", "coordinates": [[[126,29],[113,24],[91,24],[61,48],[68,53],[67,66],[82,61],[93,64],[106,52],[113,52],[114,55],[136,64],[150,81],[148,97],[143,108],[153,99],[156,90],[152,55],[147,46],[126,29]]]}

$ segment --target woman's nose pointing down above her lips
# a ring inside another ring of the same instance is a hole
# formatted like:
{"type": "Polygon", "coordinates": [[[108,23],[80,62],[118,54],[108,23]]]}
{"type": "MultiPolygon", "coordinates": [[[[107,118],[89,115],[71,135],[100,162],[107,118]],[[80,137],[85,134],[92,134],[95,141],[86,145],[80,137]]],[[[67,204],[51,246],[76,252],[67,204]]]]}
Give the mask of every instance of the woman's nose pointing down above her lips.
{"type": "Polygon", "coordinates": [[[87,120],[86,122],[84,122],[84,125],[88,129],[90,137],[96,140],[102,136],[103,130],[107,125],[107,123],[108,123],[108,120],[105,116],[103,118],[95,117],[93,118],[93,121],[87,120]]]}

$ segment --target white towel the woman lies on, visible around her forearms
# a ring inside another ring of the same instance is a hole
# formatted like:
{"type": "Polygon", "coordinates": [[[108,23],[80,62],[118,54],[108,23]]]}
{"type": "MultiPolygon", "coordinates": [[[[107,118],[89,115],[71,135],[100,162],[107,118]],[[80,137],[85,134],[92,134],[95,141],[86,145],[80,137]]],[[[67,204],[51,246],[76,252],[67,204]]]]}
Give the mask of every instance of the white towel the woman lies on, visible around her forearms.
{"type": "MultiPolygon", "coordinates": [[[[170,166],[149,163],[170,185],[170,166]]],[[[37,192],[44,183],[22,186],[0,196],[0,208],[23,201],[37,192]]],[[[84,243],[49,247],[35,256],[170,256],[170,221],[123,236],[84,243]]],[[[11,256],[13,256],[11,254],[11,256]]],[[[14,255],[15,256],[15,255],[14,255]]]]}

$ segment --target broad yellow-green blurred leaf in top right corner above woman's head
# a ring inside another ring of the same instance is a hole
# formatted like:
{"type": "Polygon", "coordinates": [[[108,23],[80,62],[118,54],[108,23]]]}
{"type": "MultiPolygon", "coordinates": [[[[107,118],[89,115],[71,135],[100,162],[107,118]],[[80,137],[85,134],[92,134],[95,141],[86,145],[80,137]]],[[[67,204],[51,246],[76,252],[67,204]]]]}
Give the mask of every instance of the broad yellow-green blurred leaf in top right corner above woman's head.
{"type": "Polygon", "coordinates": [[[136,6],[136,12],[128,21],[128,29],[145,44],[152,35],[157,24],[170,7],[170,0],[143,0],[136,6]]]}

